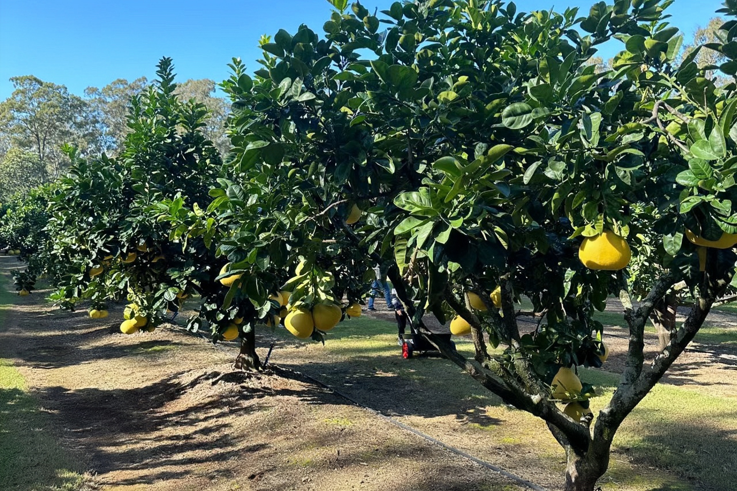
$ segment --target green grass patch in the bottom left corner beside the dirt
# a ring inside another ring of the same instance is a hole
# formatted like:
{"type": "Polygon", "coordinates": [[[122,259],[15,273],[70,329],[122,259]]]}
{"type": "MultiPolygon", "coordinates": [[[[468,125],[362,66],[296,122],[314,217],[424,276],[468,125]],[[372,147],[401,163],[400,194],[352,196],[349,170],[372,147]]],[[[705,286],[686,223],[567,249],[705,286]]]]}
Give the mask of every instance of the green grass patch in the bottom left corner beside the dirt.
{"type": "MultiPolygon", "coordinates": [[[[0,275],[0,332],[13,296],[0,275]]],[[[83,490],[88,476],[49,433],[48,415],[12,361],[0,358],[0,490],[83,490]]]]}

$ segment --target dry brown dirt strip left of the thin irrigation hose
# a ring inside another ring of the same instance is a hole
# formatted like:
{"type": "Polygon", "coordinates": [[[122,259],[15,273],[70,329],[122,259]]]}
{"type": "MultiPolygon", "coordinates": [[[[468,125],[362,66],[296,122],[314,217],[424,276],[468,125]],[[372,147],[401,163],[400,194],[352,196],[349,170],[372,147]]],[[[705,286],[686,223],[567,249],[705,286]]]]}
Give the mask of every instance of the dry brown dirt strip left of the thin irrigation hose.
{"type": "Polygon", "coordinates": [[[45,293],[17,298],[0,357],[102,490],[522,489],[292,372],[232,372],[232,349],[122,335],[119,307],[90,319],[45,293]]]}

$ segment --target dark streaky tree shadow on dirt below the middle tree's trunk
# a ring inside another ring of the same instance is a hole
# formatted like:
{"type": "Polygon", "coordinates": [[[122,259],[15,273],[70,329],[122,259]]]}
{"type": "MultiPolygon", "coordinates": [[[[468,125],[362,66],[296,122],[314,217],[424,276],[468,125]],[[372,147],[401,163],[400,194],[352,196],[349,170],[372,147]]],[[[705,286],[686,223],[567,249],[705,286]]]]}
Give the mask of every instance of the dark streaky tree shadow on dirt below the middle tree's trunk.
{"type": "Polygon", "coordinates": [[[346,403],[319,386],[248,386],[249,379],[259,375],[244,372],[205,372],[193,380],[182,380],[181,375],[136,389],[52,386],[35,395],[52,414],[55,427],[63,428],[66,445],[83,448],[95,472],[138,471],[136,477],[123,477],[117,484],[184,478],[193,465],[242,459],[268,448],[268,442],[258,438],[247,442],[248,434],[232,425],[234,417],[267,411],[270,397],[346,403]],[[158,467],[161,471],[155,472],[158,467]]]}

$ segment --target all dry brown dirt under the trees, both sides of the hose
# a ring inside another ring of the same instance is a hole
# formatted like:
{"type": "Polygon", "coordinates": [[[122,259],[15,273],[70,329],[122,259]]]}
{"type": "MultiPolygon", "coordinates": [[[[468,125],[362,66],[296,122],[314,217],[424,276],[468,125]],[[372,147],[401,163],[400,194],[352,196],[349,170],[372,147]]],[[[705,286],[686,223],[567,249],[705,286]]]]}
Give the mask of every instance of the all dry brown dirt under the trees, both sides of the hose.
{"type": "MultiPolygon", "coordinates": [[[[14,264],[0,258],[5,271],[14,264]]],[[[544,425],[502,431],[529,421],[488,393],[459,399],[433,390],[423,374],[432,359],[406,364],[392,347],[387,356],[372,352],[376,366],[367,369],[368,354],[262,334],[259,355],[263,360],[274,342],[276,365],[246,375],[231,370],[234,345],[213,347],[173,326],[122,335],[121,307],[111,308],[108,319],[90,319],[83,310],[50,310],[44,293],[16,299],[7,329],[0,330],[0,358],[14,361],[50,415],[52,431],[103,490],[523,489],[294,371],[549,490],[561,484],[565,457],[544,425]]],[[[617,305],[610,310],[616,313],[617,305]]],[[[382,309],[368,316],[394,321],[382,309]]],[[[616,372],[626,332],[607,332],[607,363],[616,372]]],[[[647,342],[654,355],[656,336],[647,342]]],[[[724,377],[737,362],[694,348],[673,367],[669,383],[711,384],[737,396],[737,377],[724,377]]],[[[605,489],[652,489],[619,487],[617,480],[662,474],[635,467],[626,451],[615,451],[611,465],[605,489]]]]}

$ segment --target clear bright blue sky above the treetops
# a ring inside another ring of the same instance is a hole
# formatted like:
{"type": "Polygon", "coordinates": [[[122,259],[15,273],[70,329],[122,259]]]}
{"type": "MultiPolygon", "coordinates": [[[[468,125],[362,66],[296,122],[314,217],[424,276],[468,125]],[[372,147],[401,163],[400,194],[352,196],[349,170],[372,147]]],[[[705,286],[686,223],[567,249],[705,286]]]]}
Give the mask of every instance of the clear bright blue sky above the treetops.
{"type": "MultiPolygon", "coordinates": [[[[364,0],[385,10],[393,0],[364,0]]],[[[518,11],[581,7],[595,0],[517,0],[518,11]]],[[[707,24],[722,0],[676,0],[671,23],[686,35],[707,24]]],[[[332,7],[326,0],[0,0],[0,100],[8,79],[33,74],[74,94],[116,78],[151,79],[161,56],[174,58],[179,80],[228,77],[240,57],[254,70],[259,36],[307,24],[321,34],[332,7]]],[[[601,52],[610,58],[618,48],[601,52]]]]}

